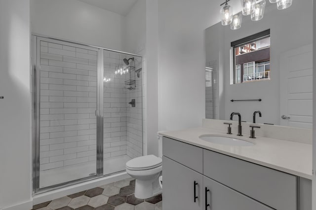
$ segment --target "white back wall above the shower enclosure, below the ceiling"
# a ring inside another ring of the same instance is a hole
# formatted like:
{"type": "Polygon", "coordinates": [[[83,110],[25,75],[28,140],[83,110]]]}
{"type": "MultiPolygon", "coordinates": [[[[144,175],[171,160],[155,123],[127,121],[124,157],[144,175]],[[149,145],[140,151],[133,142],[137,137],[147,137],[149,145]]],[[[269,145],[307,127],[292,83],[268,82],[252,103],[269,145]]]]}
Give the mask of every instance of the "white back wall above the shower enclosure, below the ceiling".
{"type": "Polygon", "coordinates": [[[122,51],[125,17],[78,0],[31,0],[32,33],[122,51]]]}

